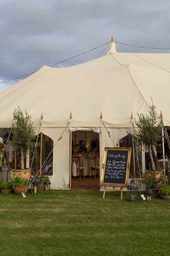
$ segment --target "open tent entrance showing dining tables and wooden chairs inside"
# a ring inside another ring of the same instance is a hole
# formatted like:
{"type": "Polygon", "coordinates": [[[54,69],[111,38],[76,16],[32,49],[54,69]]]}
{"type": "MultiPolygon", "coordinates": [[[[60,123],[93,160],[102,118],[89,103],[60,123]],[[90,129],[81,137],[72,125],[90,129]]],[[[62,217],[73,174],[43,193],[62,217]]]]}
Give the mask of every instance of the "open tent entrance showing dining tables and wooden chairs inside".
{"type": "Polygon", "coordinates": [[[70,189],[100,189],[99,136],[94,128],[70,128],[70,189]]]}

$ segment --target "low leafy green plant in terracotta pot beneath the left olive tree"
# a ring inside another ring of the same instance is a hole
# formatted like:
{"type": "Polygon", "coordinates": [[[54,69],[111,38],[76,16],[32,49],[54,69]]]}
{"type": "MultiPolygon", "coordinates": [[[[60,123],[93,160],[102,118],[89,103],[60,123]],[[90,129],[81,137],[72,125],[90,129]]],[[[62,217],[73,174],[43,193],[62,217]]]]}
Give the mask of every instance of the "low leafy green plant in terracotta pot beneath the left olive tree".
{"type": "Polygon", "coordinates": [[[27,185],[29,185],[29,180],[22,178],[22,174],[15,176],[11,175],[12,180],[9,182],[12,184],[12,188],[14,188],[15,194],[21,194],[21,192],[25,192],[27,185]]]}

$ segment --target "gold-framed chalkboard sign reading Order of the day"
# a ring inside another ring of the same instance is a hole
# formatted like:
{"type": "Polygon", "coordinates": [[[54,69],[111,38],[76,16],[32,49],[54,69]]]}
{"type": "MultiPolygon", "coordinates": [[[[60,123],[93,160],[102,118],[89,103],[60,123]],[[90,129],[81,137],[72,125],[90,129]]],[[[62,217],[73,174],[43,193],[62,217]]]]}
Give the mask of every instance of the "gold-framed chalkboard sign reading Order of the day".
{"type": "Polygon", "coordinates": [[[131,148],[104,148],[100,185],[126,187],[130,159],[131,148]]]}

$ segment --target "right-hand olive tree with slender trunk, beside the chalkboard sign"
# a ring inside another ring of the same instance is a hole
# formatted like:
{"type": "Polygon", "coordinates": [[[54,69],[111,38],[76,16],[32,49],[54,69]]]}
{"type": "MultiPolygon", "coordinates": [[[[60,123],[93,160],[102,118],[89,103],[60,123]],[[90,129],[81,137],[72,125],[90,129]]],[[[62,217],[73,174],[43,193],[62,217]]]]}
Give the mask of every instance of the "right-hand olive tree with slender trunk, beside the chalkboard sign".
{"type": "MultiPolygon", "coordinates": [[[[139,143],[142,143],[145,145],[145,147],[148,147],[151,170],[156,171],[151,147],[152,145],[157,147],[157,142],[161,139],[160,133],[163,126],[163,121],[161,120],[159,123],[156,122],[156,106],[154,105],[152,98],[151,102],[152,104],[149,106],[150,110],[148,111],[149,114],[137,114],[138,121],[135,120],[135,123],[139,129],[136,131],[136,138],[139,143]]],[[[158,176],[160,175],[161,173],[158,176]]]]}

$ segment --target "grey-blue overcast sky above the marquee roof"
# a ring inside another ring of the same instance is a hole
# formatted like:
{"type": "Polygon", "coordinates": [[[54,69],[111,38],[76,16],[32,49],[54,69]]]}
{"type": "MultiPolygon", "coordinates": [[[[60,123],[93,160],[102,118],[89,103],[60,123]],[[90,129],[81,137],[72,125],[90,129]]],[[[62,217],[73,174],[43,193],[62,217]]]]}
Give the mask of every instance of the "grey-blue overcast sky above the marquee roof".
{"type": "MultiPolygon", "coordinates": [[[[0,82],[105,44],[112,34],[125,44],[170,47],[169,25],[169,0],[0,0],[0,82]]],[[[54,67],[94,59],[104,48],[54,67]]],[[[117,45],[117,51],[126,50],[117,45]]],[[[0,90],[15,82],[1,84],[0,90]]]]}

